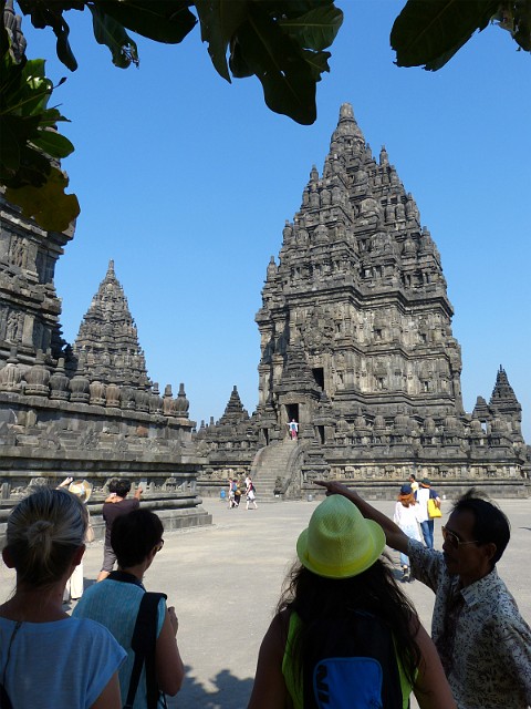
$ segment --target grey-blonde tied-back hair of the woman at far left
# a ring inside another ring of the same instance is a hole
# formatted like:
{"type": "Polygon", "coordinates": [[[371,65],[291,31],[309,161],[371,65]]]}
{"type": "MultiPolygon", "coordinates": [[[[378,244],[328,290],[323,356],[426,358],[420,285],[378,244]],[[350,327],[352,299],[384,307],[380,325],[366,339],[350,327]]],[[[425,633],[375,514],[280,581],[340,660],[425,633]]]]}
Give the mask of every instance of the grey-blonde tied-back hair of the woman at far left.
{"type": "Polygon", "coordinates": [[[88,516],[66,490],[38,487],[8,517],[7,545],[18,582],[45,587],[59,580],[82,546],[88,516]]]}

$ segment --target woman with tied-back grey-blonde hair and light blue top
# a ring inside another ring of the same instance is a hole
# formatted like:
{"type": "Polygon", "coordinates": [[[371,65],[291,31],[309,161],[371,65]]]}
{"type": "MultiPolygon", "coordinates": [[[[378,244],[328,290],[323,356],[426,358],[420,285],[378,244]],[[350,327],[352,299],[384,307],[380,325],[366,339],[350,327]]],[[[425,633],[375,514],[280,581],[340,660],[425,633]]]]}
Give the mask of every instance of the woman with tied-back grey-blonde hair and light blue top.
{"type": "Polygon", "coordinates": [[[100,624],[63,610],[86,526],[86,507],[64,490],[41,487],[9,515],[2,557],[17,587],[0,606],[2,709],[122,708],[125,651],[100,624]]]}

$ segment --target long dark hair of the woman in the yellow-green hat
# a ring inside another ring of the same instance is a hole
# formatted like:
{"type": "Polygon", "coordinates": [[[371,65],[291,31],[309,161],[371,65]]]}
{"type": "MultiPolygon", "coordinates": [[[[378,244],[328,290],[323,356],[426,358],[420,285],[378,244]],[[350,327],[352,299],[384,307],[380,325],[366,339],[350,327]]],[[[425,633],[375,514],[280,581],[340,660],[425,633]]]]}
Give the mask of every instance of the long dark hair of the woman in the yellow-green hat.
{"type": "Polygon", "coordinates": [[[321,647],[325,641],[329,623],[340,620],[345,627],[351,621],[355,623],[360,613],[368,613],[393,634],[405,675],[412,686],[415,684],[421,658],[415,640],[420,621],[398,587],[391,562],[381,557],[365,572],[351,578],[317,576],[296,562],[277,606],[278,613],[284,609],[294,610],[302,620],[293,638],[295,671],[301,677],[312,648],[321,647]]]}

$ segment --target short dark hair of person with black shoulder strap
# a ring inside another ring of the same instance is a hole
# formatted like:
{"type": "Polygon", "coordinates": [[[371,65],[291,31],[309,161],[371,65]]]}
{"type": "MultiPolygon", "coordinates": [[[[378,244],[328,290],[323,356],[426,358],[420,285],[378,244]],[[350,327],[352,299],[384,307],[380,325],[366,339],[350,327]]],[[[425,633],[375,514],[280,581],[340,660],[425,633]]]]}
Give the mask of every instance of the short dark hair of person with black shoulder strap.
{"type": "Polygon", "coordinates": [[[164,526],[149,510],[134,510],[116,517],[111,532],[111,546],[118,566],[136,566],[147,557],[163,538],[164,526]]]}

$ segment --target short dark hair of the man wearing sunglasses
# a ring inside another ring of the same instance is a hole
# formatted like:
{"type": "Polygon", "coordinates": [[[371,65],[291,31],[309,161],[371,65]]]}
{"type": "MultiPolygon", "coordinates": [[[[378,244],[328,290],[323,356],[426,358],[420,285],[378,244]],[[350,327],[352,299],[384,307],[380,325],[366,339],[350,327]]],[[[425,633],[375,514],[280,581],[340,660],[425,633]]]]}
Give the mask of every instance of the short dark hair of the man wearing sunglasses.
{"type": "Polygon", "coordinates": [[[503,512],[476,487],[468,490],[454,503],[454,512],[471,512],[472,535],[481,544],[496,544],[491,567],[500,561],[511,538],[511,525],[503,512]]]}

